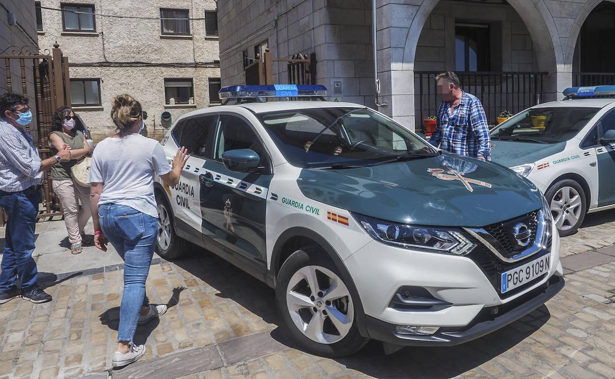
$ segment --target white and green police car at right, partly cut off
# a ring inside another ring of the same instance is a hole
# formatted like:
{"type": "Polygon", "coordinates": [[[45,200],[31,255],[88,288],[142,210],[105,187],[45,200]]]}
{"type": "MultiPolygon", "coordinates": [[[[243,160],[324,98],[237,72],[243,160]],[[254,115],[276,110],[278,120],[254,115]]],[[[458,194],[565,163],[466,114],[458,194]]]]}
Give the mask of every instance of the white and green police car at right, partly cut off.
{"type": "Polygon", "coordinates": [[[615,208],[615,85],[573,87],[491,131],[493,162],[545,194],[560,236],[615,208]]]}

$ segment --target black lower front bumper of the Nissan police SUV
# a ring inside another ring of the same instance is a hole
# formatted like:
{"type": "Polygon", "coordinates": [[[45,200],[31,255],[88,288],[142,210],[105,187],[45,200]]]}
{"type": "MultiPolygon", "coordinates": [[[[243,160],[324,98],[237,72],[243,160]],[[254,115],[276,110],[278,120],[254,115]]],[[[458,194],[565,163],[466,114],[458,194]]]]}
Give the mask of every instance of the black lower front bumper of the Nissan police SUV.
{"type": "Polygon", "coordinates": [[[469,342],[522,318],[541,307],[564,287],[564,278],[553,275],[549,280],[530,292],[509,303],[496,307],[483,308],[465,327],[443,327],[432,335],[408,335],[395,332],[395,324],[366,317],[367,332],[370,338],[393,345],[404,346],[453,346],[469,342]],[[498,308],[498,316],[491,316],[493,308],[498,308]]]}

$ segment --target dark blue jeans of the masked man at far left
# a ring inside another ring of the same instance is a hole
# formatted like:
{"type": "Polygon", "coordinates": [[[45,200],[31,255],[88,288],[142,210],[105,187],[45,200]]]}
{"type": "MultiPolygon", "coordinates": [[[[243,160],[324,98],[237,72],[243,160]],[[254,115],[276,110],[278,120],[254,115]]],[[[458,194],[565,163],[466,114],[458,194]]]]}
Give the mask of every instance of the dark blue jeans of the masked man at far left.
{"type": "Polygon", "coordinates": [[[0,190],[0,206],[4,208],[9,221],[6,224],[2,272],[0,273],[0,292],[8,292],[17,286],[17,277],[23,291],[36,286],[38,271],[32,258],[34,251],[34,226],[41,202],[41,189],[20,192],[0,190]]]}

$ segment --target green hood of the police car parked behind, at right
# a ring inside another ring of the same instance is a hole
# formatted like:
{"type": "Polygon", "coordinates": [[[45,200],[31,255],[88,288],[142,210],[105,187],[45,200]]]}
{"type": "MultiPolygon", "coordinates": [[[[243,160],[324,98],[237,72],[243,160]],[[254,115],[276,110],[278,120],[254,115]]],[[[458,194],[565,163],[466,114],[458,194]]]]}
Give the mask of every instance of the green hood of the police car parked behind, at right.
{"type": "Polygon", "coordinates": [[[506,167],[524,165],[562,152],[565,147],[565,142],[538,144],[493,139],[491,140],[491,160],[506,167]]]}

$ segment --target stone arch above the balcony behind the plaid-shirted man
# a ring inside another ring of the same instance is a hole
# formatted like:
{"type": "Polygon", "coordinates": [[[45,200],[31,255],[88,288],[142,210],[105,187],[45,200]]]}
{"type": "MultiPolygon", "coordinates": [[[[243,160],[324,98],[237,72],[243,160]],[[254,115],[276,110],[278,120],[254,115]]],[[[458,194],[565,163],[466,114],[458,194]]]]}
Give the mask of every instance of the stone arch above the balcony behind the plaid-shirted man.
{"type": "MultiPolygon", "coordinates": [[[[402,69],[414,69],[419,36],[427,18],[439,1],[424,0],[414,15],[403,49],[402,69]]],[[[539,70],[556,72],[558,64],[564,63],[564,54],[557,26],[544,0],[539,0],[535,5],[530,0],[508,0],[508,2],[520,15],[530,32],[534,49],[539,52],[537,56],[539,70]]]]}

